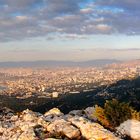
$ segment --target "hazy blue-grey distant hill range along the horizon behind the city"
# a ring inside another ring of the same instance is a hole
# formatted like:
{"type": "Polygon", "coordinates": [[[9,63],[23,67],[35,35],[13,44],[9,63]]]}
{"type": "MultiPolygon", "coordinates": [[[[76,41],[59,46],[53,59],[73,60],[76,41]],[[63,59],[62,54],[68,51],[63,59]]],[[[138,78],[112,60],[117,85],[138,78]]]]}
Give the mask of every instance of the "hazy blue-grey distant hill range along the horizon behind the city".
{"type": "Polygon", "coordinates": [[[74,61],[19,61],[19,62],[0,62],[0,67],[99,67],[121,61],[115,59],[97,59],[90,61],[74,62],[74,61]]]}

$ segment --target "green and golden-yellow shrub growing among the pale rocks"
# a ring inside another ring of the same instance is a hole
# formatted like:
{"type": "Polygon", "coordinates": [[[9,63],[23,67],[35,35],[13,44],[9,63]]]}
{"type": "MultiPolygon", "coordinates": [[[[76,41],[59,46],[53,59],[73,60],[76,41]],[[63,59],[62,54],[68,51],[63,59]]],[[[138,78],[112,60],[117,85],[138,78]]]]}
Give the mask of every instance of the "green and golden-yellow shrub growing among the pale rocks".
{"type": "Polygon", "coordinates": [[[116,99],[106,101],[104,108],[96,105],[93,114],[97,120],[105,127],[115,129],[128,119],[140,121],[140,112],[137,112],[128,103],[120,103],[116,99]]]}

